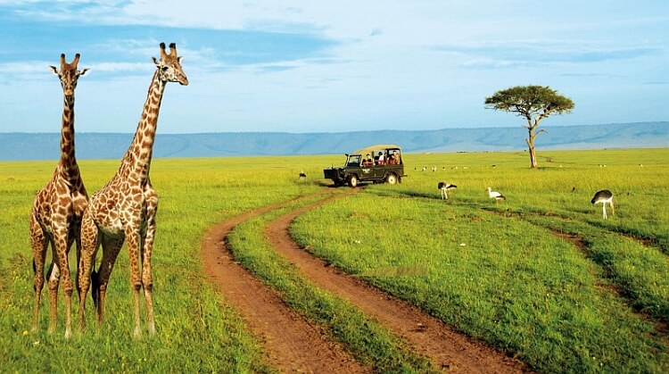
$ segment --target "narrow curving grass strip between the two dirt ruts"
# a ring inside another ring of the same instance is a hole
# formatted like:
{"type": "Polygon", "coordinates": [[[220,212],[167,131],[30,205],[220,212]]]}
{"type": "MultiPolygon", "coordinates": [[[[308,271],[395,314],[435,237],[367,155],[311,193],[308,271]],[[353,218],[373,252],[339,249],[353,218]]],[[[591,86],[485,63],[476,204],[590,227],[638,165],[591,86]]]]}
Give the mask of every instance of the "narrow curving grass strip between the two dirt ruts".
{"type": "Polygon", "coordinates": [[[304,203],[288,204],[237,226],[228,237],[235,259],[275,288],[291,308],[323,326],[375,372],[436,372],[430,362],[409,352],[397,337],[351,303],[310,284],[273,250],[265,237],[265,224],[304,203]]]}

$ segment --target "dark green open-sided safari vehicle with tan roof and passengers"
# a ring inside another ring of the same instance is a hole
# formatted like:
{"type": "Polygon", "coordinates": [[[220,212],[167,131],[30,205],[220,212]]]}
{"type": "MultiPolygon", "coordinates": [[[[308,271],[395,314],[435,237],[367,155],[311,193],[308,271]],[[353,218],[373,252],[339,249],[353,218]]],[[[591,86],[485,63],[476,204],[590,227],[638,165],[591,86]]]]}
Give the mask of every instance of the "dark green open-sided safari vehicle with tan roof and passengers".
{"type": "Polygon", "coordinates": [[[323,174],[337,187],[343,184],[356,187],[360,182],[394,185],[405,177],[400,145],[371,145],[359,149],[346,154],[343,166],[325,169],[323,174]]]}

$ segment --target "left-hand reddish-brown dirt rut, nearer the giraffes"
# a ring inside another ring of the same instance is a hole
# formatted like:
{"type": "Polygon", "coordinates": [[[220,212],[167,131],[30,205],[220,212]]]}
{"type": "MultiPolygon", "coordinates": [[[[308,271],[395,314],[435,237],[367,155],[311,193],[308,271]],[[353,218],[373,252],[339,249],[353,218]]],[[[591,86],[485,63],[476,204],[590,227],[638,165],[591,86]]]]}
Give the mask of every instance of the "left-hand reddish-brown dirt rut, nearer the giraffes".
{"type": "Polygon", "coordinates": [[[286,204],[317,195],[324,190],[282,203],[270,204],[226,220],[210,229],[202,242],[204,270],[227,303],[240,312],[252,333],[260,339],[268,364],[281,371],[370,372],[347,353],[343,345],[326,338],[321,328],[285,305],[279,296],[235,262],[225,238],[236,225],[286,204]]]}

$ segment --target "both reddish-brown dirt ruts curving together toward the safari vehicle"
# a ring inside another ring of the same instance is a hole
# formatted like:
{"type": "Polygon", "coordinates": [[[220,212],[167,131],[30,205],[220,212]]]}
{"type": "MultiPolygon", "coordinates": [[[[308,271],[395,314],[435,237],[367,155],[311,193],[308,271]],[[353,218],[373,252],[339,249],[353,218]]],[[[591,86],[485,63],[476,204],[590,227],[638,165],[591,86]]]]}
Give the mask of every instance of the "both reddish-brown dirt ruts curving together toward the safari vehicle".
{"type": "MultiPolygon", "coordinates": [[[[323,195],[326,191],[316,195],[323,195]]],[[[381,322],[417,353],[429,357],[436,368],[453,372],[527,371],[527,368],[487,345],[463,336],[413,305],[352,278],[297,245],[288,229],[295,217],[342,195],[333,195],[286,213],[266,228],[268,240],[315,285],[340,295],[362,312],[381,322]]],[[[282,371],[366,372],[318,327],[288,308],[280,298],[237,262],[227,249],[225,237],[244,220],[270,212],[288,202],[268,205],[227,220],[211,229],[202,245],[205,270],[229,303],[265,347],[268,363],[282,371]]]]}

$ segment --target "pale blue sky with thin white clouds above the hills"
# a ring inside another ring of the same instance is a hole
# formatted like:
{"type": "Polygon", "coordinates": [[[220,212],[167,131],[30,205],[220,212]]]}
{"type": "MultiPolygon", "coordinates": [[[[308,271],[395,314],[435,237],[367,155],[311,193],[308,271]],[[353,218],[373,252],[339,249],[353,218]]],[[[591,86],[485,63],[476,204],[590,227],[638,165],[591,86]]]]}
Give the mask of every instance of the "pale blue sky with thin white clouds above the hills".
{"type": "Polygon", "coordinates": [[[576,104],[546,126],[669,121],[669,1],[0,0],[0,132],[58,132],[60,54],[90,68],[80,132],[134,132],[160,42],[161,133],[520,126],[519,85],[576,104]]]}

